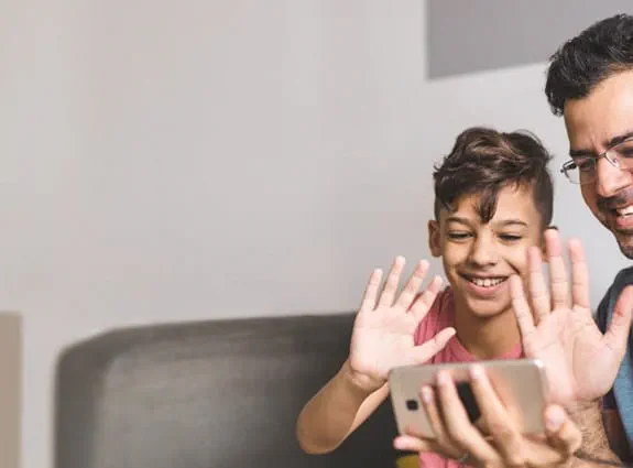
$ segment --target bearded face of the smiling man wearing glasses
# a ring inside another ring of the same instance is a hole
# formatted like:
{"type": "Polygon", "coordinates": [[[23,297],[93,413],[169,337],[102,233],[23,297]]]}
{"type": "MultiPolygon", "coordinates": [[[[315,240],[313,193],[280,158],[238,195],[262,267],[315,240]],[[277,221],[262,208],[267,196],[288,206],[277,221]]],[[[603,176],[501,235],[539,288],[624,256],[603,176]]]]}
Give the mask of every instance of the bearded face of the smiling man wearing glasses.
{"type": "MultiPolygon", "coordinates": [[[[633,131],[633,70],[618,73],[582,99],[564,108],[570,150],[602,154],[609,142],[633,131]]],[[[593,216],[615,237],[620,250],[633,259],[633,174],[602,157],[593,182],[580,186],[593,216]]]]}

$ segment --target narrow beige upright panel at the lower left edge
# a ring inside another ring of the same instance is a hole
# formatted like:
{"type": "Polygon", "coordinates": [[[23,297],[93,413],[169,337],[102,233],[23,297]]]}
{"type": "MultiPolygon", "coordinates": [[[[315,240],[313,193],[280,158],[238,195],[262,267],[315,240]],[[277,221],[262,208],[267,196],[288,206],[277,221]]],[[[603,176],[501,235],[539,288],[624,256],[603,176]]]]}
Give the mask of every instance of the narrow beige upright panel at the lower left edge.
{"type": "Polygon", "coordinates": [[[0,467],[20,466],[22,329],[15,314],[0,314],[0,467]]]}

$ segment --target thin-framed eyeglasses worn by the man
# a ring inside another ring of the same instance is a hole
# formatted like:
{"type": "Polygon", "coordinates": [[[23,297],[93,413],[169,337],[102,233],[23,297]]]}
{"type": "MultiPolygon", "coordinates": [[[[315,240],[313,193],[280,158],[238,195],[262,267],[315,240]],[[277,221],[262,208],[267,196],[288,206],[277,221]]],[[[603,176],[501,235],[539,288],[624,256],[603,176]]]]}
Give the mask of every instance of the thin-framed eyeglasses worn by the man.
{"type": "Polygon", "coordinates": [[[633,171],[633,137],[614,144],[597,156],[574,157],[563,164],[560,172],[572,184],[590,184],[596,181],[596,167],[602,157],[620,171],[633,171]]]}

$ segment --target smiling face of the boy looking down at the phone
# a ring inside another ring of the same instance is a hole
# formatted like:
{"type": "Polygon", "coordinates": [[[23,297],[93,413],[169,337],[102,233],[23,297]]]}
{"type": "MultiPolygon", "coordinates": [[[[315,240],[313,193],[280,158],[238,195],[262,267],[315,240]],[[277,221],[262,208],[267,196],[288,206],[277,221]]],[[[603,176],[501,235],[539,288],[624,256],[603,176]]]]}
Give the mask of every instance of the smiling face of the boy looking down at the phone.
{"type": "Polygon", "coordinates": [[[511,307],[508,279],[525,275],[526,248],[541,246],[542,219],[532,187],[502,188],[488,224],[477,213],[478,202],[478,195],[463,196],[455,211],[443,209],[439,221],[429,221],[429,247],[441,257],[456,304],[491,317],[511,307]]]}

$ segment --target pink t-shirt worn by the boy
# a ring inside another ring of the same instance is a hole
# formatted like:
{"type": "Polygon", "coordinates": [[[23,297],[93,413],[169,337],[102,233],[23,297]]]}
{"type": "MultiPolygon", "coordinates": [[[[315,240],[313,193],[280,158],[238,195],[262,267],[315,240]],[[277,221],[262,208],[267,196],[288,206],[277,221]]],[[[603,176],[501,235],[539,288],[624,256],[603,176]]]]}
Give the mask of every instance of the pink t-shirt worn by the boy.
{"type": "MultiPolygon", "coordinates": [[[[450,287],[440,292],[433,306],[417,326],[415,330],[414,340],[415,345],[433,338],[438,331],[446,327],[455,326],[455,304],[452,301],[452,291],[450,287]]],[[[519,359],[523,355],[521,344],[516,345],[512,351],[499,356],[496,359],[519,359]]],[[[478,359],[472,356],[468,350],[461,346],[457,336],[450,338],[446,347],[435,355],[428,363],[438,362],[473,362],[478,359]]],[[[424,468],[459,468],[466,465],[458,464],[452,459],[447,459],[437,454],[421,454],[419,466],[424,468]]]]}

